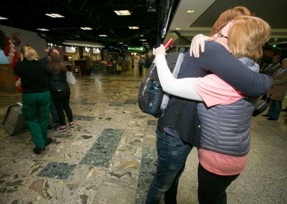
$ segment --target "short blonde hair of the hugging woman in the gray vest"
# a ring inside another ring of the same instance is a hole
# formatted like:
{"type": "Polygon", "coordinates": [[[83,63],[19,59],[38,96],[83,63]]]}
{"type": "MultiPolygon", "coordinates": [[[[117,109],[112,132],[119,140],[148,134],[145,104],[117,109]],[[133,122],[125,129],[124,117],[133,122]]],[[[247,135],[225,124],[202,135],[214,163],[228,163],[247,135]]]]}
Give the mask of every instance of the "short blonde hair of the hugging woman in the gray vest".
{"type": "Polygon", "coordinates": [[[228,31],[228,45],[237,57],[258,59],[262,46],[270,39],[270,25],[259,17],[237,17],[228,31]]]}

